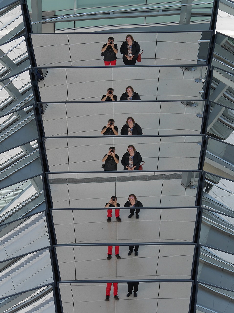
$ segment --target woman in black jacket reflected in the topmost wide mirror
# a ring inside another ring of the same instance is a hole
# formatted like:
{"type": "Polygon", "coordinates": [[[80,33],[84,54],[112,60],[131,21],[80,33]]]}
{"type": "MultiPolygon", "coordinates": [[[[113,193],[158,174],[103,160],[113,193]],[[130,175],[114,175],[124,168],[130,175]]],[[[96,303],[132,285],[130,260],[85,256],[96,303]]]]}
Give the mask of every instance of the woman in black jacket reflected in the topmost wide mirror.
{"type": "Polygon", "coordinates": [[[132,35],[127,35],[125,42],[121,44],[120,53],[123,54],[123,62],[125,65],[135,65],[138,54],[140,53],[140,45],[134,41],[132,35]]]}

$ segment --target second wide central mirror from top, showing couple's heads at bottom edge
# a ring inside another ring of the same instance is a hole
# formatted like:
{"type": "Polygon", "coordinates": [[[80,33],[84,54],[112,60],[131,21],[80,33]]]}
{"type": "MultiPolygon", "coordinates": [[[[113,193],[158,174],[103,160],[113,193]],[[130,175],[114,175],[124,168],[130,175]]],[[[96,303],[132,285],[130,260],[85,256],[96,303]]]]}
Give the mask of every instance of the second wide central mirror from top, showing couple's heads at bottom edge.
{"type": "MultiPolygon", "coordinates": [[[[101,67],[48,68],[48,74],[38,83],[43,102],[100,101],[108,88],[114,89],[117,100],[183,100],[201,99],[202,85],[195,79],[197,71],[183,71],[175,67],[101,67]],[[127,70],[127,72],[126,72],[127,70]],[[126,75],[126,73],[128,73],[126,75]],[[134,94],[126,93],[132,87],[134,94]]],[[[36,69],[35,69],[36,70],[36,69]]],[[[207,66],[202,66],[202,77],[207,66]]]]}

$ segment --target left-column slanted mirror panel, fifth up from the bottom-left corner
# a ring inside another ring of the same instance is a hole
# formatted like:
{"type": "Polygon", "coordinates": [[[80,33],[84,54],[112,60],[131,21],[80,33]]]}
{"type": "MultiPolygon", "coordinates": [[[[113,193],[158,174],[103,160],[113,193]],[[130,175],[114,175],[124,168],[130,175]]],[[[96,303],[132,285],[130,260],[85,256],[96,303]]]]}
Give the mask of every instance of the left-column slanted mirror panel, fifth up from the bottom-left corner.
{"type": "Polygon", "coordinates": [[[42,172],[37,140],[1,153],[0,159],[0,188],[42,172]]]}

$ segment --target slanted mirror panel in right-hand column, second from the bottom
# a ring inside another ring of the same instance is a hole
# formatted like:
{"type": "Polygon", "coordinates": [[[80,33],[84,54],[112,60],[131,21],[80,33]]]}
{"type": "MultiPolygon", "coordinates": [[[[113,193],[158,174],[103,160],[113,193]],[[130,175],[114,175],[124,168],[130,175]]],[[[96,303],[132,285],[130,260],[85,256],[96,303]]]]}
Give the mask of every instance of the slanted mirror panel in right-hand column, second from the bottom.
{"type": "Polygon", "coordinates": [[[233,290],[233,264],[233,254],[201,246],[197,279],[233,290]]]}

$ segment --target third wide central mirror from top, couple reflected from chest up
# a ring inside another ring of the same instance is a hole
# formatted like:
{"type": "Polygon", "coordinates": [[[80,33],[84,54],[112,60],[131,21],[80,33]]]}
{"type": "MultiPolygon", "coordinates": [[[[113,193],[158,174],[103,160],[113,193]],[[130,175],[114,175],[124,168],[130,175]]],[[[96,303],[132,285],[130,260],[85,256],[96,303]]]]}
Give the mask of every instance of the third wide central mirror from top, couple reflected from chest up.
{"type": "Polygon", "coordinates": [[[42,118],[45,136],[109,136],[114,135],[111,125],[119,136],[127,135],[131,119],[136,135],[141,134],[138,125],[145,135],[198,135],[201,119],[196,114],[205,103],[196,101],[195,107],[190,104],[189,101],[186,106],[181,101],[48,103],[42,118]],[[111,119],[114,122],[108,125],[111,119]]]}

